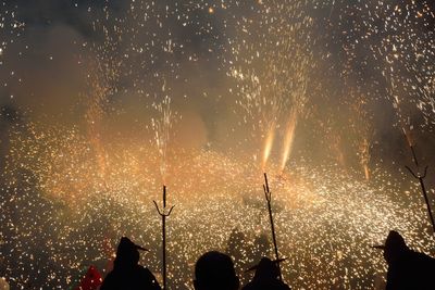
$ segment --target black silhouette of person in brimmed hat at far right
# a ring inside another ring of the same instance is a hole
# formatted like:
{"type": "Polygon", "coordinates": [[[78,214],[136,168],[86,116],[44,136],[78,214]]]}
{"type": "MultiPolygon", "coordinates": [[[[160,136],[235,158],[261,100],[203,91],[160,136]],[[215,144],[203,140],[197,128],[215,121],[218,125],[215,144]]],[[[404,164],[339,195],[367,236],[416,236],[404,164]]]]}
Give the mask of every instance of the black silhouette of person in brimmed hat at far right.
{"type": "Polygon", "coordinates": [[[389,231],[384,250],[388,264],[386,290],[435,289],[435,260],[426,254],[412,251],[397,231],[389,231]]]}

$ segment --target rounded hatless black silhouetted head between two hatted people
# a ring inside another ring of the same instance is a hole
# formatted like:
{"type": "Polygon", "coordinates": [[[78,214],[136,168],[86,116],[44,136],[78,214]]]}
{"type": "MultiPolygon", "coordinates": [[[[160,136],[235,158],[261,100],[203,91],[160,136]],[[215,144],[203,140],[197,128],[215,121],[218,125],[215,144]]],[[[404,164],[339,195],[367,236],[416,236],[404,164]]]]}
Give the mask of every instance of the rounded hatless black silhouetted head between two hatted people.
{"type": "Polygon", "coordinates": [[[196,290],[237,290],[239,280],[233,260],[220,252],[207,252],[195,265],[196,290]]]}

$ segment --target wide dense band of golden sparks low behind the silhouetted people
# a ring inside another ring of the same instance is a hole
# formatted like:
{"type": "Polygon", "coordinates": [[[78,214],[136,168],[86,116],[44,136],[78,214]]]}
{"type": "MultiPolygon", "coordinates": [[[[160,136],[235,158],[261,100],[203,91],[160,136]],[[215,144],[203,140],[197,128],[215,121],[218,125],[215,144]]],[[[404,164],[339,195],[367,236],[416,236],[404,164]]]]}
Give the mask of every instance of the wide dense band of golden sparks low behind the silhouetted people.
{"type": "MultiPolygon", "coordinates": [[[[160,163],[156,152],[140,142],[123,147],[108,143],[110,166],[102,185],[96,175],[98,159],[86,136],[37,127],[16,128],[11,139],[10,184],[2,209],[5,237],[14,239],[3,242],[17,250],[4,255],[12,262],[7,277],[23,287],[36,282],[49,288],[69,285],[88,263],[103,270],[120,235],[153,249],[144,263],[159,273],[159,219],[149,218],[154,216],[151,192],[158,190],[153,180],[159,175],[142,173],[144,167],[160,163]],[[32,237],[38,237],[38,247],[32,237]],[[48,279],[38,280],[32,268],[44,270],[48,279]]],[[[256,186],[260,168],[213,152],[185,154],[183,159],[178,163],[185,166],[174,168],[178,174],[171,178],[178,204],[177,214],[169,220],[169,279],[174,289],[191,289],[196,259],[210,249],[225,251],[236,227],[249,241],[243,244],[243,265],[254,263],[258,254],[271,254],[257,253],[263,248],[254,242],[269,232],[261,188],[256,186]]],[[[285,178],[271,179],[278,248],[289,257],[284,277],[293,287],[372,287],[374,277],[385,274],[385,264],[370,245],[383,242],[393,228],[403,232],[412,248],[433,249],[431,237],[422,235],[424,209],[419,196],[411,194],[418,185],[409,185],[405,191],[396,186],[407,184],[406,175],[396,180],[377,172],[376,180],[365,184],[343,175],[335,166],[310,169],[307,165],[291,163],[291,171],[284,171],[285,178]],[[408,205],[398,200],[408,200],[408,205]]],[[[270,166],[270,176],[281,174],[281,167],[270,166]]],[[[265,249],[270,245],[266,241],[265,249]]],[[[238,269],[241,276],[245,269],[238,269]]]]}

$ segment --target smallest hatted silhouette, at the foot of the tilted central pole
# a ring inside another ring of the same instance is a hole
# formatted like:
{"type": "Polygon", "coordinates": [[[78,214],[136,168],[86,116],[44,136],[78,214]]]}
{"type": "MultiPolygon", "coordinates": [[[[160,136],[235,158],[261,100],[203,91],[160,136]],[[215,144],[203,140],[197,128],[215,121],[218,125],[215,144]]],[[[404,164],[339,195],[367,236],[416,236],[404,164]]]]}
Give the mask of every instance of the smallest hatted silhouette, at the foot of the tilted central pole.
{"type": "Polygon", "coordinates": [[[257,266],[249,269],[256,269],[256,275],[241,290],[289,290],[290,288],[279,280],[277,263],[269,257],[262,257],[257,266]]]}

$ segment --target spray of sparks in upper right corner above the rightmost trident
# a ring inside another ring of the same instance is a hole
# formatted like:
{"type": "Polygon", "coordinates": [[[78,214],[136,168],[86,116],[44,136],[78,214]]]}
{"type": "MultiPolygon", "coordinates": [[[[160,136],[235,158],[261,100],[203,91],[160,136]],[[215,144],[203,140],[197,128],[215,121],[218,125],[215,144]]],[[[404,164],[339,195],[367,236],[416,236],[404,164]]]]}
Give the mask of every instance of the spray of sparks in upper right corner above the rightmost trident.
{"type": "Polygon", "coordinates": [[[352,23],[352,28],[344,31],[347,61],[357,64],[362,59],[361,65],[373,65],[374,77],[383,76],[384,80],[372,79],[373,89],[391,100],[397,126],[406,123],[410,108],[421,111],[426,125],[433,125],[435,17],[431,1],[358,1],[341,12],[352,23]],[[387,86],[383,88],[384,81],[387,86]]]}

